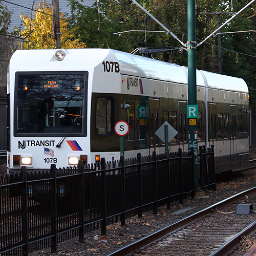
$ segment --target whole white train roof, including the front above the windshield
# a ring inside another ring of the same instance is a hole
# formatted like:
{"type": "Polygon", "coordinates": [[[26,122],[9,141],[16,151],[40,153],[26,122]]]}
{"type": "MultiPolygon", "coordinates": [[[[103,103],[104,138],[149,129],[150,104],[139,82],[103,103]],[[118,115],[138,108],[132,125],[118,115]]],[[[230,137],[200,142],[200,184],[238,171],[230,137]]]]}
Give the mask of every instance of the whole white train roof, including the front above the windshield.
{"type": "MultiPolygon", "coordinates": [[[[102,61],[114,57],[118,60],[121,74],[145,77],[179,84],[187,84],[187,67],[152,58],[142,57],[112,49],[68,49],[63,61],[54,61],[52,50],[17,50],[10,62],[10,68],[20,71],[88,69],[101,65],[102,61]],[[56,65],[56,61],[58,65],[56,65]],[[36,70],[37,69],[37,70],[36,70]]],[[[242,78],[197,70],[197,86],[248,93],[242,78]]]]}

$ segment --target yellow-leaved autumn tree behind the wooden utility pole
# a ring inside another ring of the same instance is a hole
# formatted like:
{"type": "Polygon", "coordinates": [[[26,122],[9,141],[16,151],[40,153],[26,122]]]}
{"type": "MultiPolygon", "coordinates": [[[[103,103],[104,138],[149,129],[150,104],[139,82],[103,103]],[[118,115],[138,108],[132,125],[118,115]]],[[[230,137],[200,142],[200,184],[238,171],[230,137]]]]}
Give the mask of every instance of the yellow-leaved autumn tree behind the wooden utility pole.
{"type": "MultiPolygon", "coordinates": [[[[29,15],[21,14],[24,30],[20,36],[26,38],[25,49],[52,49],[54,48],[52,7],[46,1],[35,6],[36,12],[32,18],[29,15]]],[[[85,48],[86,44],[78,38],[74,38],[75,28],[69,29],[64,14],[60,13],[60,33],[62,48],[85,48]]]]}

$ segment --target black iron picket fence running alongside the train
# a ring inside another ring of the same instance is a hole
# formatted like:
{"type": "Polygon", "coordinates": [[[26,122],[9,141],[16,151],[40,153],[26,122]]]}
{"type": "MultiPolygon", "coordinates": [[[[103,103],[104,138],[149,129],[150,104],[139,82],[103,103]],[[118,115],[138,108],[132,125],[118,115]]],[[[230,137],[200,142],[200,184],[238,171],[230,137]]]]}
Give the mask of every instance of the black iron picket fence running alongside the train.
{"type": "MultiPolygon", "coordinates": [[[[211,158],[212,154],[204,154],[211,158]]],[[[0,254],[28,255],[194,197],[193,154],[171,153],[0,176],[0,254]]],[[[203,156],[202,156],[203,158],[203,156]]],[[[208,160],[207,160],[208,161],[208,160]]],[[[214,161],[212,159],[212,161],[214,161]]],[[[204,176],[203,176],[204,177],[204,176]]],[[[204,182],[206,180],[204,179],[204,182]]],[[[207,185],[206,185],[207,186],[207,185]]]]}

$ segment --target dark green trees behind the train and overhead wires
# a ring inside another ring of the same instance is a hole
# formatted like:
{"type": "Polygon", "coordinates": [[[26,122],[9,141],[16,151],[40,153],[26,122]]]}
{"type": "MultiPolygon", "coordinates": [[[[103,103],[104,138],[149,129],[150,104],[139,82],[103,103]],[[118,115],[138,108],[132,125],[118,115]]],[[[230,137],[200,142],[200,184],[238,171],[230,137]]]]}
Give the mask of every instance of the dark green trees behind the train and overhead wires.
{"type": "MultiPolygon", "coordinates": [[[[216,12],[238,12],[249,2],[249,0],[196,0],[197,42],[200,43],[218,28],[216,12]],[[215,14],[205,15],[206,12],[215,14]]],[[[139,4],[186,43],[187,1],[140,0],[139,4]]],[[[181,47],[176,39],[166,33],[127,32],[120,36],[114,35],[119,31],[130,30],[163,31],[160,25],[148,17],[131,0],[120,0],[119,2],[98,0],[92,7],[86,7],[77,0],[69,0],[69,5],[72,9],[70,28],[76,28],[75,38],[83,41],[87,47],[113,48],[126,52],[132,52],[139,47],[181,47]]],[[[255,9],[256,3],[251,4],[222,28],[221,32],[256,30],[255,9]]],[[[230,14],[221,14],[219,17],[220,24],[223,24],[230,18],[230,14]]],[[[255,35],[255,32],[221,34],[222,73],[241,77],[246,81],[250,90],[250,104],[253,110],[256,109],[255,35]]],[[[218,36],[214,35],[197,48],[198,69],[218,72],[217,39],[218,36]]],[[[187,66],[186,51],[154,54],[154,58],[187,66]]]]}

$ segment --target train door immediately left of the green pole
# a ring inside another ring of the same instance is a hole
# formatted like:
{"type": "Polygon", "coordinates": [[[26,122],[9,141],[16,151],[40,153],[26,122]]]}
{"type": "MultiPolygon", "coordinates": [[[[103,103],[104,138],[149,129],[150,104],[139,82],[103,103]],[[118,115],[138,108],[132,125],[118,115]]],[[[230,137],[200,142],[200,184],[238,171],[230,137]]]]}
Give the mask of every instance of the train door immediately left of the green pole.
{"type": "Polygon", "coordinates": [[[187,101],[179,100],[179,147],[187,143],[187,101]]]}

